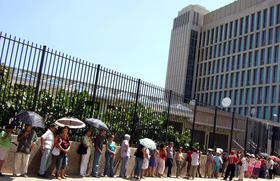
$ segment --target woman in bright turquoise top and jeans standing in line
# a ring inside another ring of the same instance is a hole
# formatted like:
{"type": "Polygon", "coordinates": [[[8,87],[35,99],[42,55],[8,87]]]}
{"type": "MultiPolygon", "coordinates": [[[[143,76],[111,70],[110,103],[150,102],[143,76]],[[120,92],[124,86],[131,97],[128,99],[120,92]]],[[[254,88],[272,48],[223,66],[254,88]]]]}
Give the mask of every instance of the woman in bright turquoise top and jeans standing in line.
{"type": "Polygon", "coordinates": [[[111,135],[109,137],[109,141],[106,143],[106,152],[105,152],[105,168],[104,168],[104,176],[107,177],[108,169],[110,171],[109,177],[115,177],[114,174],[114,160],[116,156],[116,143],[114,142],[115,135],[111,135]]]}

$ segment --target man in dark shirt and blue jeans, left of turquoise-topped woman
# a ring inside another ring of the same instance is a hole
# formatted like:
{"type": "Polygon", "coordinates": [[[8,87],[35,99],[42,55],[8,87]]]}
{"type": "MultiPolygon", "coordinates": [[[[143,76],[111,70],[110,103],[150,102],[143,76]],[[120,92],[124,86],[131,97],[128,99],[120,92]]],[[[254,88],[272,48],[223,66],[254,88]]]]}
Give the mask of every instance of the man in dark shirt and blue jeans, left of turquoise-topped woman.
{"type": "Polygon", "coordinates": [[[103,149],[103,143],[104,143],[104,136],[105,136],[106,131],[105,130],[100,130],[99,135],[96,136],[94,140],[94,159],[93,159],[93,166],[92,166],[92,177],[99,177],[98,176],[98,167],[100,163],[100,158],[102,154],[102,149],[103,149]]]}

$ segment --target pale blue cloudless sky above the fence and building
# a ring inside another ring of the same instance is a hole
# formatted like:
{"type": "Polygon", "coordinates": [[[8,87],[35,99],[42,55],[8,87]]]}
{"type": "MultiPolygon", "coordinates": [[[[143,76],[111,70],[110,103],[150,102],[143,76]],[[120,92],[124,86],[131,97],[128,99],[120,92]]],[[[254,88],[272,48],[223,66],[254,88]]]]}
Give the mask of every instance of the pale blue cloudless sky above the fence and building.
{"type": "Polygon", "coordinates": [[[0,0],[0,31],[164,87],[173,19],[234,0],[0,0]]]}

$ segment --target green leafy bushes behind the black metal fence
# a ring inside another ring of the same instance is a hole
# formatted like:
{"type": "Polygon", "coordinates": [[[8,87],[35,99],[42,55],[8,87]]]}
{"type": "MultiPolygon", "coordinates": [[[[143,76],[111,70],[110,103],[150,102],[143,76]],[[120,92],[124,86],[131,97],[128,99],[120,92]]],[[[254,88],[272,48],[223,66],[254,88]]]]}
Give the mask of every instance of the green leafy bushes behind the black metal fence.
{"type": "MultiPolygon", "coordinates": [[[[3,64],[0,66],[0,82],[0,123],[5,125],[20,111],[32,109],[35,88],[33,85],[11,83],[9,73],[3,64]]],[[[38,95],[36,112],[45,118],[47,125],[65,116],[81,120],[91,117],[92,100],[87,91],[40,89],[38,95]]],[[[110,129],[108,134],[115,134],[117,142],[120,143],[123,135],[128,133],[132,135],[133,144],[144,137],[151,138],[159,144],[173,141],[175,147],[187,147],[190,143],[189,130],[179,133],[174,131],[172,126],[166,129],[166,111],[157,112],[151,107],[138,103],[135,113],[135,103],[124,104],[122,101],[115,103],[114,107],[107,108],[103,112],[99,112],[97,104],[94,104],[92,117],[102,118],[110,129]]],[[[71,130],[72,139],[79,140],[85,129],[71,130]]],[[[96,130],[94,133],[97,133],[96,130]]]]}

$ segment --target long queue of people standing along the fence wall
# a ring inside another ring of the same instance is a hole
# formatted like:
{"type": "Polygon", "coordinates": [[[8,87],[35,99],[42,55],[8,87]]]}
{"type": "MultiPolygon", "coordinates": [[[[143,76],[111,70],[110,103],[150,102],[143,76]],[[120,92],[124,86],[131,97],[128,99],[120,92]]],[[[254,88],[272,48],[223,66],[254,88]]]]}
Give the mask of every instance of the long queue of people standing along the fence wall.
{"type": "MultiPolygon", "coordinates": [[[[0,176],[4,159],[9,151],[11,144],[12,126],[6,126],[6,129],[0,133],[0,176]]],[[[65,172],[68,162],[68,152],[71,149],[69,140],[69,127],[65,126],[60,130],[60,133],[55,136],[57,131],[56,125],[51,124],[48,130],[41,136],[41,163],[38,170],[38,177],[47,178],[46,171],[51,165],[52,157],[56,157],[56,178],[65,179],[67,174],[65,172]]],[[[105,168],[103,172],[104,177],[116,177],[114,173],[114,161],[116,158],[116,143],[114,135],[110,135],[108,141],[104,143],[106,131],[100,130],[99,134],[93,139],[92,130],[88,129],[81,140],[81,147],[84,151],[81,154],[80,162],[80,176],[99,177],[98,168],[103,151],[105,148],[105,168]],[[93,151],[93,165],[92,172],[87,175],[87,168],[89,159],[93,151]]],[[[30,153],[37,141],[37,134],[31,125],[26,125],[20,132],[17,138],[18,145],[15,154],[13,176],[27,177],[28,162],[30,153]]],[[[129,147],[130,135],[124,135],[124,140],[120,148],[121,168],[120,177],[127,178],[128,159],[131,157],[129,147]]],[[[135,166],[134,178],[143,179],[147,171],[147,176],[154,177],[155,170],[156,176],[162,177],[164,171],[167,170],[167,177],[172,176],[173,163],[176,164],[176,177],[180,178],[183,173],[182,167],[184,162],[187,162],[186,176],[189,179],[201,177],[200,164],[201,164],[201,151],[196,148],[190,148],[187,155],[183,155],[183,147],[179,147],[177,152],[174,149],[174,143],[170,142],[167,146],[160,144],[159,151],[149,150],[143,145],[139,144],[135,151],[135,166]],[[158,160],[158,161],[157,161],[158,160]],[[157,165],[158,164],[158,165],[157,165]],[[157,169],[156,169],[157,168],[157,169]]],[[[235,153],[234,150],[227,154],[227,152],[217,151],[214,156],[214,150],[208,149],[207,158],[205,163],[204,177],[205,178],[219,178],[224,180],[233,180],[238,177],[240,181],[247,178],[269,178],[274,177],[275,169],[278,167],[277,160],[273,157],[261,157],[253,154],[244,155],[241,152],[235,153]]]]}

